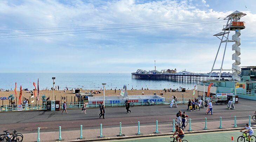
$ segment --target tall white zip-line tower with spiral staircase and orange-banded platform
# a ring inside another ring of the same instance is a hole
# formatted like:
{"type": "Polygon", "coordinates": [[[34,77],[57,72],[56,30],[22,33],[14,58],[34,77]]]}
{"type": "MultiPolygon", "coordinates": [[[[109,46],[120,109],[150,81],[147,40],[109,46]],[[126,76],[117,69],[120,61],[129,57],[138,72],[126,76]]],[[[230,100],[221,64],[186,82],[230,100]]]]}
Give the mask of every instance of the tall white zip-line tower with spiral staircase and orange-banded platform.
{"type": "Polygon", "coordinates": [[[239,12],[239,11],[235,11],[232,14],[228,15],[226,18],[224,18],[224,20],[228,20],[227,24],[223,26],[222,30],[224,32],[220,32],[220,33],[217,33],[214,35],[221,40],[221,43],[218,48],[218,51],[217,51],[217,54],[216,54],[216,57],[215,57],[215,60],[213,63],[213,67],[211,68],[211,73],[210,73],[209,77],[211,77],[211,74],[214,70],[219,70],[220,75],[219,75],[218,80],[220,80],[222,70],[232,70],[232,80],[241,81],[241,77],[238,76],[239,74],[241,74],[241,68],[238,67],[238,65],[241,64],[241,58],[238,57],[241,54],[241,48],[239,47],[241,45],[241,38],[239,38],[239,37],[241,36],[241,30],[245,28],[245,22],[241,22],[240,18],[245,15],[246,14],[239,12]],[[232,40],[229,39],[229,33],[231,31],[235,31],[235,34],[232,36],[232,40]],[[232,64],[232,69],[222,69],[228,42],[235,42],[235,44],[232,45],[232,50],[235,51],[235,53],[232,55],[232,60],[235,60],[235,62],[232,64]],[[215,65],[216,59],[218,57],[218,53],[220,51],[220,47],[221,47],[222,43],[225,43],[225,48],[224,48],[221,68],[214,69],[214,65],[215,65]]]}

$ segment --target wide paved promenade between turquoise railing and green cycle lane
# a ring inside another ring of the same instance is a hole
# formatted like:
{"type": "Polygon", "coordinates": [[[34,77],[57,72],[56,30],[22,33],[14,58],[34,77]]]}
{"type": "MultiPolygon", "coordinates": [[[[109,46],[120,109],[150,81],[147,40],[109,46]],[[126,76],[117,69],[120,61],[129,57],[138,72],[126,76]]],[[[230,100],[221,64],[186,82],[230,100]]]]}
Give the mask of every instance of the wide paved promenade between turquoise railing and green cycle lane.
{"type": "MultiPolygon", "coordinates": [[[[40,127],[41,141],[55,141],[59,138],[59,126],[61,137],[64,141],[74,141],[80,137],[80,125],[83,125],[83,141],[102,140],[100,136],[100,124],[102,124],[103,139],[120,139],[138,137],[137,122],[140,121],[139,136],[168,135],[172,133],[172,120],[178,110],[186,111],[192,119],[192,131],[185,129],[186,133],[209,132],[216,130],[230,130],[234,128],[234,115],[237,117],[237,126],[243,127],[249,122],[248,116],[255,112],[255,101],[240,99],[235,104],[236,109],[227,110],[227,105],[214,105],[213,115],[205,114],[205,110],[187,111],[187,105],[178,105],[178,108],[170,108],[168,105],[135,106],[130,108],[132,113],[126,114],[124,107],[106,108],[106,119],[99,119],[99,108],[87,109],[87,114],[81,114],[80,109],[68,110],[69,114],[61,114],[60,111],[27,111],[27,112],[1,112],[0,131],[16,129],[24,135],[25,142],[36,141],[37,128],[40,127]],[[207,130],[204,130],[204,118],[207,117],[207,130]],[[222,129],[219,129],[220,117],[222,117],[222,129]],[[155,134],[155,121],[159,121],[159,132],[155,134]],[[122,122],[122,134],[119,135],[119,122],[122,122]]],[[[256,125],[251,120],[252,125],[256,125]]],[[[188,124],[189,125],[189,124],[188,124]]],[[[239,128],[240,129],[240,128],[239,128]]]]}

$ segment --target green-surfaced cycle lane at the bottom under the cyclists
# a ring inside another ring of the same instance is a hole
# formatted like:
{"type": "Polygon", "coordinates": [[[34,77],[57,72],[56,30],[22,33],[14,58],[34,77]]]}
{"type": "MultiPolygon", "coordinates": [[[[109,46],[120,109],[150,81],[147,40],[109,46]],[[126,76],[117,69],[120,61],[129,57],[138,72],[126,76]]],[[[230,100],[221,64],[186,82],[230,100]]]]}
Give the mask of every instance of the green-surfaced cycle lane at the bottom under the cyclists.
{"type": "MultiPolygon", "coordinates": [[[[239,130],[236,131],[219,131],[219,132],[209,132],[209,133],[191,133],[185,134],[183,140],[188,142],[231,142],[231,136],[234,137],[234,142],[237,141],[237,137],[241,136],[239,130]]],[[[177,135],[175,135],[177,136],[177,135]]],[[[140,137],[134,139],[123,139],[123,140],[109,140],[103,142],[170,142],[169,136],[151,136],[151,137],[140,137]]],[[[101,141],[102,142],[102,141],[101,141]]]]}

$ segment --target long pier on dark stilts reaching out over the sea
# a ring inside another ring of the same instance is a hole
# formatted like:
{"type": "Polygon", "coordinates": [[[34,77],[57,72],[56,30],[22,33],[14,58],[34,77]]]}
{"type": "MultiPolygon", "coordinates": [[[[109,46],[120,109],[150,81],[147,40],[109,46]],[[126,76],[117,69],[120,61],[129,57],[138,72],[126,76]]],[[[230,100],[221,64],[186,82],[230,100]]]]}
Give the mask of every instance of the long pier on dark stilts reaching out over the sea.
{"type": "MultiPolygon", "coordinates": [[[[137,80],[170,80],[174,82],[200,82],[202,80],[215,80],[219,75],[209,74],[177,74],[177,73],[159,73],[159,74],[144,74],[132,73],[132,79],[137,80]]],[[[232,80],[232,74],[221,75],[222,80],[232,80]]]]}

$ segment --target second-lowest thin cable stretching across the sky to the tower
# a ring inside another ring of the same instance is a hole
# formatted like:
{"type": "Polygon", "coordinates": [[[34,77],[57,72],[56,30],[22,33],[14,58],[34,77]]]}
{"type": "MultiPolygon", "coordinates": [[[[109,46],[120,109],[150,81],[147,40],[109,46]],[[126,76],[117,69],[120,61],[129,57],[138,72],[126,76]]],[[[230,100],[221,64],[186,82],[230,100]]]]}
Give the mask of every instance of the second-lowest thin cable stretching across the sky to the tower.
{"type": "MultiPolygon", "coordinates": [[[[214,21],[223,21],[223,20],[208,20],[208,21],[201,21],[203,22],[214,22],[214,21]]],[[[174,23],[174,24],[187,24],[186,23],[174,23]]],[[[199,23],[199,22],[189,22],[189,23],[199,23]]],[[[99,30],[116,30],[116,29],[130,29],[130,28],[143,28],[143,27],[156,27],[162,25],[174,25],[174,24],[159,24],[159,25],[147,25],[147,26],[137,26],[137,27],[124,27],[124,28],[109,28],[109,29],[92,29],[92,30],[77,30],[77,31],[60,31],[60,32],[44,32],[44,33],[26,33],[26,34],[18,34],[18,35],[3,35],[1,37],[6,36],[24,36],[24,35],[41,35],[41,34],[52,34],[52,33],[63,33],[63,32],[82,32],[82,31],[99,31],[99,30]]],[[[180,25],[182,26],[182,25],[180,25]]]]}

